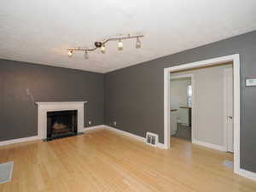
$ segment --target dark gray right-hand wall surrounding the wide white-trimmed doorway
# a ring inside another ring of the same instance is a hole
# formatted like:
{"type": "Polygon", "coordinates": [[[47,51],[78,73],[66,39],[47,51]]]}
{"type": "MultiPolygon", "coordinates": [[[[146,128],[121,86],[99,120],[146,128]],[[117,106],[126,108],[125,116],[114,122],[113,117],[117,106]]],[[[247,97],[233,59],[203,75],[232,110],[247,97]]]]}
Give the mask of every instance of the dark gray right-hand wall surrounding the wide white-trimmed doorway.
{"type": "MultiPolygon", "coordinates": [[[[157,45],[156,45],[157,46],[157,45]]],[[[152,131],[164,141],[164,68],[213,57],[241,56],[241,168],[256,172],[256,32],[207,44],[105,75],[105,124],[145,137],[152,131]]]]}

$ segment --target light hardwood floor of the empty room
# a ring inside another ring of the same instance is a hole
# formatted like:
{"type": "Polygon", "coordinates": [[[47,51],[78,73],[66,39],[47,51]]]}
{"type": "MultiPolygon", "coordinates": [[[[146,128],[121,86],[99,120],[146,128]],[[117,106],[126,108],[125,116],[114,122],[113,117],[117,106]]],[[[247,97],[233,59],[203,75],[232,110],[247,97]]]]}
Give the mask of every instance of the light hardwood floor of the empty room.
{"type": "Polygon", "coordinates": [[[48,143],[0,147],[14,160],[1,192],[250,192],[256,183],[222,165],[232,155],[172,137],[172,149],[153,148],[112,131],[91,131],[48,143]]]}

